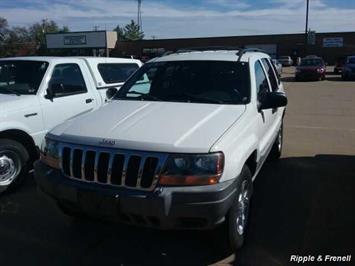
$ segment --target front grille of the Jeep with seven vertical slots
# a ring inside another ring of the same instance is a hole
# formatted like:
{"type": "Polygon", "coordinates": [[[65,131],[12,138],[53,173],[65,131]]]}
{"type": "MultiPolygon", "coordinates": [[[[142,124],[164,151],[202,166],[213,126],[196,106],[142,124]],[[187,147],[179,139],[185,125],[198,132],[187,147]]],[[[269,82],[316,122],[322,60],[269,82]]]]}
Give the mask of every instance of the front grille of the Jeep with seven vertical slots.
{"type": "Polygon", "coordinates": [[[167,154],[61,146],[61,169],[65,176],[104,185],[151,191],[155,188],[167,154]]]}

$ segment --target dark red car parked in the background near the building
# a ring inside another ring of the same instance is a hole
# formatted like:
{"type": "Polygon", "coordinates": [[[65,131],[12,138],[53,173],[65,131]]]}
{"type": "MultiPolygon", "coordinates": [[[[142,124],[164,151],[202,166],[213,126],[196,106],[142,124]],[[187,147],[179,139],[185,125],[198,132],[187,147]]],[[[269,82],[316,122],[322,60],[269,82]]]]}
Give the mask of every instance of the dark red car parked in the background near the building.
{"type": "Polygon", "coordinates": [[[295,80],[324,80],[325,75],[324,60],[317,56],[307,56],[302,58],[300,65],[296,67],[295,80]]]}

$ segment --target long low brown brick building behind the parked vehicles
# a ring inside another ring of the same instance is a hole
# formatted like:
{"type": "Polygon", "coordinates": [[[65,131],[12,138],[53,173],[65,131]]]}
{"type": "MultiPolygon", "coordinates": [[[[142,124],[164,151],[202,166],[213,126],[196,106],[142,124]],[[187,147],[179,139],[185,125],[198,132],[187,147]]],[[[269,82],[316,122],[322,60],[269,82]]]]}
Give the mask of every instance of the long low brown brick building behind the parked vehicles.
{"type": "Polygon", "coordinates": [[[328,63],[341,56],[355,54],[355,32],[316,33],[309,38],[305,51],[305,35],[277,34],[257,36],[231,36],[209,38],[157,39],[140,41],[117,41],[111,56],[135,55],[155,57],[166,51],[205,46],[258,47],[273,57],[290,55],[293,57],[315,54],[328,63]]]}

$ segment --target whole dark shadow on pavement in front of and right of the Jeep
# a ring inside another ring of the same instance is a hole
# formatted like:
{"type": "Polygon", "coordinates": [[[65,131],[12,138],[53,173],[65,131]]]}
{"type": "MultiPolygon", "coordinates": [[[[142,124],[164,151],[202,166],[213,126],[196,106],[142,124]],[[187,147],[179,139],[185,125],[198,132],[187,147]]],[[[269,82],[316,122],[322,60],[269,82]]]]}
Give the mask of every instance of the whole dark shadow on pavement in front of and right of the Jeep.
{"type": "Polygon", "coordinates": [[[29,180],[0,199],[0,258],[3,265],[277,266],[292,254],[354,255],[354,189],[355,156],[266,164],[255,181],[245,246],[233,257],[209,231],[73,222],[29,180]]]}

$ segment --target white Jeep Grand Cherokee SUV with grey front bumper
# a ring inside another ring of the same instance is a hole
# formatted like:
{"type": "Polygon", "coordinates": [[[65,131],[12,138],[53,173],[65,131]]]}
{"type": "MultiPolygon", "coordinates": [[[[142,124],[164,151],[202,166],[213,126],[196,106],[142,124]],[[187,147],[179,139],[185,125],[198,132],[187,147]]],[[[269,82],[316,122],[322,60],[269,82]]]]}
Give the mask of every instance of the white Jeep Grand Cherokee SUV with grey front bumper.
{"type": "Polygon", "coordinates": [[[153,59],[100,110],[46,136],[39,188],[71,216],[244,240],[252,181],[279,158],[287,98],[255,49],[153,59]],[[147,81],[148,80],[148,81],[147,81]]]}

